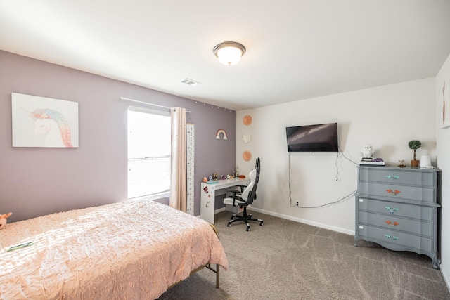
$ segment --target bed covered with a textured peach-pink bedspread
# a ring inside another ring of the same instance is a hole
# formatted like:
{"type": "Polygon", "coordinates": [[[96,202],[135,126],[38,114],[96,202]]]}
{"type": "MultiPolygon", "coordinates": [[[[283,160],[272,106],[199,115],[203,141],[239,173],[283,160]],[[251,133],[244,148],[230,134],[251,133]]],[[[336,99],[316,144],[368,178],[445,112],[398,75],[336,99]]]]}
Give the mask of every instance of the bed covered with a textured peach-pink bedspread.
{"type": "Polygon", "coordinates": [[[219,287],[228,261],[212,227],[150,200],[7,223],[0,299],[156,299],[203,266],[219,287]]]}

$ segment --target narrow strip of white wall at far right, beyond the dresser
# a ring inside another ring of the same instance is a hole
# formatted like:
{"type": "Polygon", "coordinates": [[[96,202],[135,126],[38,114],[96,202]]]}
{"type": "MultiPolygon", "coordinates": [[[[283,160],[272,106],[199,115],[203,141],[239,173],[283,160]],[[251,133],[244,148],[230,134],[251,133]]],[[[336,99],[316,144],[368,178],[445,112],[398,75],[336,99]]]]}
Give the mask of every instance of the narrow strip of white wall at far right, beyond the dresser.
{"type": "MultiPolygon", "coordinates": [[[[442,197],[441,197],[441,232],[440,232],[440,256],[441,256],[441,272],[444,275],[447,287],[450,289],[450,186],[448,184],[450,178],[450,128],[441,129],[442,116],[442,85],[444,80],[449,82],[450,77],[450,56],[447,58],[441,70],[436,76],[436,138],[437,138],[437,167],[442,169],[442,197]]],[[[450,86],[446,89],[450,91],[450,86]]],[[[447,93],[449,95],[449,93],[447,93]]],[[[450,105],[450,99],[446,98],[446,105],[450,105]]]]}

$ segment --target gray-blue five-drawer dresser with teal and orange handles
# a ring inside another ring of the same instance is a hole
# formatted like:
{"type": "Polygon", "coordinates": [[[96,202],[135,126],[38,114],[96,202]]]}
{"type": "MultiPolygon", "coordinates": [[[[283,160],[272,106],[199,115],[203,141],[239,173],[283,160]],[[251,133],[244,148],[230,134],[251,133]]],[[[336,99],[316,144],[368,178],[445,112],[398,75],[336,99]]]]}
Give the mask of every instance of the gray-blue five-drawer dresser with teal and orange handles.
{"type": "Polygon", "coordinates": [[[437,256],[438,169],[359,166],[354,245],[376,242],[395,251],[437,256]]]}

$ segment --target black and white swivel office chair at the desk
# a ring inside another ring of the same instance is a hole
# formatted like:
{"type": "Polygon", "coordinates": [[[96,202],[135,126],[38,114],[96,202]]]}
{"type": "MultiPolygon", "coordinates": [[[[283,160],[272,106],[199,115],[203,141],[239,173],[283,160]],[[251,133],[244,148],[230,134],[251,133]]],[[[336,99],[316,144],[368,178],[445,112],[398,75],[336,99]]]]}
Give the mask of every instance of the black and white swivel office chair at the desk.
{"type": "Polygon", "coordinates": [[[238,214],[233,214],[231,216],[231,220],[228,221],[228,224],[226,226],[230,227],[231,223],[234,223],[236,221],[243,221],[245,224],[247,224],[247,231],[250,231],[250,223],[249,221],[257,221],[259,222],[259,225],[262,226],[263,222],[262,219],[254,219],[252,217],[252,214],[247,215],[247,207],[250,206],[253,203],[253,200],[256,199],[256,188],[259,181],[259,171],[261,170],[261,162],[259,160],[259,157],[256,159],[255,169],[252,169],[250,171],[249,177],[250,177],[250,183],[248,183],[247,186],[242,186],[241,190],[229,190],[227,193],[231,193],[231,197],[224,198],[224,204],[233,205],[233,207],[243,207],[243,215],[240,216],[238,214]]]}

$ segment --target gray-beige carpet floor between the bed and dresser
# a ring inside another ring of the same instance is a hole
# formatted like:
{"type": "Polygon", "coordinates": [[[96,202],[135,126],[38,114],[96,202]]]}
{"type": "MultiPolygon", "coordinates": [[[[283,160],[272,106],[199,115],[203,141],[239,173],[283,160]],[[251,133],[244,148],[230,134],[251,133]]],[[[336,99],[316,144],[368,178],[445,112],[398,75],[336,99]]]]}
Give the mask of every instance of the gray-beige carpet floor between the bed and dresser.
{"type": "Polygon", "coordinates": [[[243,222],[226,227],[230,213],[216,215],[229,259],[215,274],[200,270],[172,287],[172,299],[450,299],[428,256],[392,252],[331,230],[254,213],[264,226],[243,222]]]}

